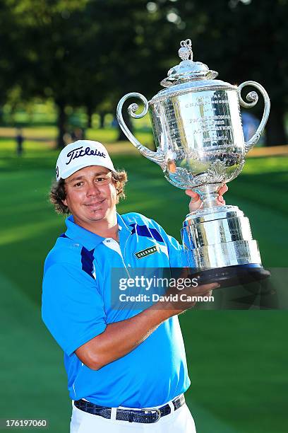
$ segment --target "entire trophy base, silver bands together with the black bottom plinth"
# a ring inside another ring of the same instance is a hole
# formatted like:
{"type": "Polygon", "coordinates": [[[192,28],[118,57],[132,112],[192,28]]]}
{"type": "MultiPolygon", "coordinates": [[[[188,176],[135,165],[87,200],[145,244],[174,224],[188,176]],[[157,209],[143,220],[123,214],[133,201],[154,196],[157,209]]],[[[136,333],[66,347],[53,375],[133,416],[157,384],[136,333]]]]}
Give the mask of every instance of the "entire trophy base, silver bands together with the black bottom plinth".
{"type": "Polygon", "coordinates": [[[217,206],[188,214],[181,231],[186,263],[198,284],[221,287],[258,282],[270,272],[261,263],[249,220],[236,206],[217,206]]]}

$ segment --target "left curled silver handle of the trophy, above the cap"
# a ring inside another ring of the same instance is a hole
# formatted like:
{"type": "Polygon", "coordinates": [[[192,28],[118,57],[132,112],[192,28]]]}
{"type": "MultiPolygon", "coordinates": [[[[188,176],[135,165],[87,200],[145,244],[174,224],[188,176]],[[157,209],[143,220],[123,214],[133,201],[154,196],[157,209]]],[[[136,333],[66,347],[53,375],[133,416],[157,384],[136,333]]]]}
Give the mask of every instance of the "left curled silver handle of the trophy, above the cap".
{"type": "Polygon", "coordinates": [[[136,139],[136,137],[134,137],[134,135],[132,134],[130,129],[128,129],[126,123],[124,122],[123,115],[122,115],[122,108],[123,108],[124,102],[128,98],[139,98],[144,104],[144,109],[142,112],[140,112],[140,114],[136,114],[136,111],[139,108],[138,104],[134,103],[134,104],[129,105],[128,106],[128,113],[129,113],[129,115],[131,115],[131,117],[133,117],[134,119],[140,119],[141,117],[144,117],[148,112],[148,100],[145,98],[145,96],[143,96],[143,95],[141,95],[141,93],[137,93],[137,92],[127,93],[125,96],[123,96],[123,98],[121,98],[119,100],[119,103],[117,105],[116,115],[117,115],[117,120],[119,122],[119,125],[120,125],[122,131],[124,132],[124,134],[126,135],[126,137],[138,149],[138,151],[140,151],[140,153],[143,154],[143,156],[145,156],[146,158],[150,159],[151,161],[159,164],[163,168],[164,160],[165,160],[164,152],[162,152],[162,150],[159,148],[157,149],[157,151],[152,151],[152,150],[148,149],[147,147],[143,146],[143,144],[140,144],[140,142],[138,142],[138,139],[136,139]]]}

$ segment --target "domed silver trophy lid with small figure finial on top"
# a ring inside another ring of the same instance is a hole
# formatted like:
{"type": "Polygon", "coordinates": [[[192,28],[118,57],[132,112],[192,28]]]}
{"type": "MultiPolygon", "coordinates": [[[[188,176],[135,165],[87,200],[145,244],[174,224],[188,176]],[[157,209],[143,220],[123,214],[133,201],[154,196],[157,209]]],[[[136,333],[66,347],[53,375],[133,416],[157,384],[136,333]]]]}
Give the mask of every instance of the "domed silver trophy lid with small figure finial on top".
{"type": "Polygon", "coordinates": [[[181,40],[178,54],[182,62],[169,69],[167,78],[161,81],[163,87],[171,87],[187,81],[215,79],[218,75],[218,72],[211,71],[207,64],[193,62],[191,45],[191,39],[181,40]]]}

